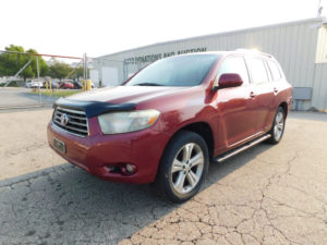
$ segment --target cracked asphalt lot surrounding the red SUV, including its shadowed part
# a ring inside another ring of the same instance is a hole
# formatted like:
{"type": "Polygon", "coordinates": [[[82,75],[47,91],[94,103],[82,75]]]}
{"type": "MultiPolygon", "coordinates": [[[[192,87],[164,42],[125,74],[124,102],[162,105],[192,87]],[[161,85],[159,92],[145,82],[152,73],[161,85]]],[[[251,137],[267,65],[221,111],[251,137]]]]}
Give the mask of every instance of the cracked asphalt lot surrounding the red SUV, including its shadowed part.
{"type": "Polygon", "coordinates": [[[210,164],[183,205],[66,163],[50,117],[0,113],[0,244],[327,244],[327,114],[291,112],[279,145],[210,164]]]}

